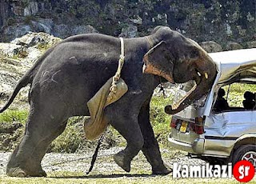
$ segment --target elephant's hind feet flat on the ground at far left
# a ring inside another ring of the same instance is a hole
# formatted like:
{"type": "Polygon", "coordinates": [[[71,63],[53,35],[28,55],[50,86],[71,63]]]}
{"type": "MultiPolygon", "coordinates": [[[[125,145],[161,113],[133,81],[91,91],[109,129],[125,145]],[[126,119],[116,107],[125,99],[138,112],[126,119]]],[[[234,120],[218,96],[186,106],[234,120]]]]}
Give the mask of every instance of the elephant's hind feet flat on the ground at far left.
{"type": "Polygon", "coordinates": [[[33,172],[26,172],[26,170],[22,170],[20,167],[14,167],[7,169],[6,174],[10,177],[18,177],[18,178],[25,178],[30,176],[35,177],[46,177],[46,172],[44,170],[38,170],[33,172]]]}

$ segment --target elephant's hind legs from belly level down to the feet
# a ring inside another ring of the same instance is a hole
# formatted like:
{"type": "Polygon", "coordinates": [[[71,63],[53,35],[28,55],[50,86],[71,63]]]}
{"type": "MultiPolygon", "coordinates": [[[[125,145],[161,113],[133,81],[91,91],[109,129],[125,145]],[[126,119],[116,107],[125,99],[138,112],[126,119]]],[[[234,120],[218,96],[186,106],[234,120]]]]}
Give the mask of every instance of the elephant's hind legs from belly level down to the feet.
{"type": "Polygon", "coordinates": [[[50,142],[62,134],[66,120],[30,111],[22,142],[15,148],[7,164],[6,174],[14,177],[46,176],[41,161],[50,142]]]}

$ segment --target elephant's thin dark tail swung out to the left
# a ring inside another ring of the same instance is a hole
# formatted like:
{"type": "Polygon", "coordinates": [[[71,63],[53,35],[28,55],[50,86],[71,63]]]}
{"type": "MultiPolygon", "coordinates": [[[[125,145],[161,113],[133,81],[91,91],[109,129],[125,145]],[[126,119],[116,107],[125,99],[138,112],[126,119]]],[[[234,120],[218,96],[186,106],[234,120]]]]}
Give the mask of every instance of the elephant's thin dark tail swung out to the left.
{"type": "Polygon", "coordinates": [[[0,113],[5,111],[10,104],[14,101],[14,98],[17,96],[19,90],[22,89],[22,87],[25,87],[28,83],[30,83],[30,75],[25,74],[19,81],[18,84],[15,86],[14,92],[10,95],[10,98],[6,102],[6,104],[0,109],[0,113]]]}

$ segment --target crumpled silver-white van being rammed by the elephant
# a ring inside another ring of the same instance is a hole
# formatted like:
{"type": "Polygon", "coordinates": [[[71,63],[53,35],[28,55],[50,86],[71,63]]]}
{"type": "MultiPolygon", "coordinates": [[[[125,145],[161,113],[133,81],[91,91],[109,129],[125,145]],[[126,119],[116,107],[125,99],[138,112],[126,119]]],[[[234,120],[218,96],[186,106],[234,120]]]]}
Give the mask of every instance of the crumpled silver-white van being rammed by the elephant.
{"type": "Polygon", "coordinates": [[[173,115],[170,146],[211,164],[247,160],[256,168],[256,48],[209,55],[217,78],[209,94],[173,115]]]}

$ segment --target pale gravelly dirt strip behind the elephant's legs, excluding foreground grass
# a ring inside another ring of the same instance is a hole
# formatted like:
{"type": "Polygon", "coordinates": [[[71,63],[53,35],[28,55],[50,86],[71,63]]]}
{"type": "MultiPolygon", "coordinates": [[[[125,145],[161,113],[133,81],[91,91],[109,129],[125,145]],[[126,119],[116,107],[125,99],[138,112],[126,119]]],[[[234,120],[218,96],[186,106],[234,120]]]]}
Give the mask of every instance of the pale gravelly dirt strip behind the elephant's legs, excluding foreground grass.
{"type": "MultiPolygon", "coordinates": [[[[108,150],[100,150],[98,153],[98,158],[94,165],[94,170],[91,174],[114,174],[114,173],[123,173],[126,174],[113,160],[113,155],[118,153],[119,150],[122,150],[121,147],[114,147],[108,150]]],[[[90,167],[91,157],[94,154],[93,151],[88,151],[88,153],[77,153],[77,154],[46,154],[42,160],[42,167],[49,172],[83,172],[86,174],[86,171],[90,167]]],[[[172,166],[173,162],[186,163],[186,164],[202,164],[203,161],[198,159],[189,159],[186,158],[184,153],[174,152],[171,150],[162,150],[163,159],[168,166],[172,166]]],[[[6,164],[10,152],[0,153],[0,174],[5,174],[6,164]]],[[[146,161],[146,158],[140,152],[137,157],[134,158],[131,166],[132,172],[139,174],[150,174],[151,167],[150,164],[146,161]]]]}

